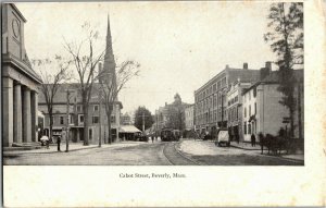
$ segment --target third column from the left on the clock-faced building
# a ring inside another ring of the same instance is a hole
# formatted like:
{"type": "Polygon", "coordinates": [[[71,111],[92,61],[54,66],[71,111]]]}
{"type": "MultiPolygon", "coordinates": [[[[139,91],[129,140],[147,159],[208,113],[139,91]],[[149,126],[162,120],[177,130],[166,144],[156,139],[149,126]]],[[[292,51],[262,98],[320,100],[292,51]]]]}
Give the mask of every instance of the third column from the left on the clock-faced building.
{"type": "Polygon", "coordinates": [[[23,103],[23,142],[32,142],[32,113],[30,113],[30,89],[24,87],[24,103],[23,103]]]}

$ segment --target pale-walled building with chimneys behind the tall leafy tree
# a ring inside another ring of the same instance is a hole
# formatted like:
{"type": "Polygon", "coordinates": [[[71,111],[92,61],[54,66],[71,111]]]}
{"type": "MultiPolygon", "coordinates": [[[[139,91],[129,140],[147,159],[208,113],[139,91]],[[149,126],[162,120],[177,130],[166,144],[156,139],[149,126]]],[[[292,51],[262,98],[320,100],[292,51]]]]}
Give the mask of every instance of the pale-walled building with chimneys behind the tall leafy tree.
{"type": "MultiPolygon", "coordinates": [[[[294,77],[297,84],[294,87],[294,137],[303,135],[303,70],[294,70],[294,77]],[[301,96],[298,96],[301,95],[301,96]],[[301,113],[298,109],[301,108],[301,113]],[[301,117],[301,123],[299,124],[299,118],[301,117]],[[302,126],[299,133],[299,125],[302,126]]],[[[265,68],[261,70],[261,81],[251,85],[243,91],[243,139],[250,142],[250,135],[258,135],[260,132],[263,134],[278,135],[279,130],[289,130],[288,123],[289,110],[279,103],[284,95],[277,90],[279,86],[278,71],[271,72],[265,68]]]]}

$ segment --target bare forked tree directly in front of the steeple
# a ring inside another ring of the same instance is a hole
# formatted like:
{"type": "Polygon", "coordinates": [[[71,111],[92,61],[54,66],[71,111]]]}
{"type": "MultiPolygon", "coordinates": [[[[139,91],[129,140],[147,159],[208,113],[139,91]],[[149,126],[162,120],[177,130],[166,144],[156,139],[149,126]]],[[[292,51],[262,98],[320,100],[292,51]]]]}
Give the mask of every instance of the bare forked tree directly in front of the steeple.
{"type": "Polygon", "coordinates": [[[101,99],[104,103],[108,119],[109,144],[112,143],[111,114],[113,112],[114,105],[117,101],[117,95],[121,89],[124,88],[126,83],[130,81],[130,78],[138,75],[139,66],[140,64],[135,61],[124,61],[117,66],[116,73],[106,70],[99,72],[99,83],[101,85],[100,90],[103,91],[101,99]]]}

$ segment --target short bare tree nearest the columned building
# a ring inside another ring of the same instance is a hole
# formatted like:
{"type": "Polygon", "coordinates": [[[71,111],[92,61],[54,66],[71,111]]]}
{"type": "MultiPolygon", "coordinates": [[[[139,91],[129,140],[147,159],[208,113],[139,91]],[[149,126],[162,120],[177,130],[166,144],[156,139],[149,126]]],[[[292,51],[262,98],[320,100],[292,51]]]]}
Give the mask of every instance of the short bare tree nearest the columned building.
{"type": "Polygon", "coordinates": [[[68,73],[70,62],[63,61],[62,57],[55,56],[51,59],[34,59],[32,64],[37,69],[38,74],[42,79],[40,91],[45,96],[46,105],[49,114],[49,137],[52,138],[53,129],[53,102],[55,94],[60,85],[71,78],[68,73]],[[54,69],[53,69],[54,68],[54,69]]]}

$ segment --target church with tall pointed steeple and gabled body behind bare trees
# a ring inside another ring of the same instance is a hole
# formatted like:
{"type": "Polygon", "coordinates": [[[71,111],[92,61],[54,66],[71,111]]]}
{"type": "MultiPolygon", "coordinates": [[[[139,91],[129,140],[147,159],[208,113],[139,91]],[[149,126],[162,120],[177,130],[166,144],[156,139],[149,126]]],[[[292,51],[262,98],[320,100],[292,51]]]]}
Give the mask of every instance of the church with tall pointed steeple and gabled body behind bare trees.
{"type": "MultiPolygon", "coordinates": [[[[78,90],[79,84],[61,84],[59,90],[53,98],[53,136],[54,139],[62,132],[62,129],[67,125],[70,126],[70,139],[73,143],[79,143],[84,140],[84,122],[88,122],[88,139],[89,144],[98,144],[101,137],[103,143],[108,143],[109,129],[108,119],[105,113],[105,105],[100,105],[99,90],[101,88],[101,82],[111,83],[111,85],[116,89],[116,72],[115,72],[115,60],[112,49],[112,37],[110,29],[110,20],[108,17],[108,32],[106,32],[106,48],[104,54],[104,63],[99,63],[99,72],[102,74],[99,82],[93,83],[91,90],[91,98],[89,100],[88,107],[88,121],[84,119],[82,95],[78,90]],[[70,118],[66,119],[66,91],[65,89],[74,89],[72,97],[70,99],[68,114],[70,118]],[[101,135],[101,136],[100,136],[101,135]]],[[[45,131],[47,135],[50,135],[50,118],[47,113],[47,105],[43,95],[40,95],[39,99],[40,111],[45,114],[45,131]]],[[[116,99],[112,103],[112,114],[111,114],[111,134],[113,142],[118,138],[118,133],[121,129],[121,109],[123,108],[122,102],[116,99]]]]}

